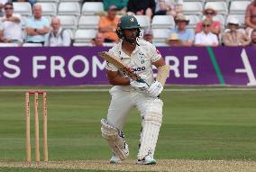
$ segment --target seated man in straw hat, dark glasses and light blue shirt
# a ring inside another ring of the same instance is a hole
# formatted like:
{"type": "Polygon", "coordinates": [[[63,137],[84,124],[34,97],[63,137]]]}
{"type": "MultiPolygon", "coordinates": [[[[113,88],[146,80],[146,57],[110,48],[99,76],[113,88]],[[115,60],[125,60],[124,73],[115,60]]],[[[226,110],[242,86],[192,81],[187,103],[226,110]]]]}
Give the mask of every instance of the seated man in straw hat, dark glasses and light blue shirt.
{"type": "Polygon", "coordinates": [[[181,41],[181,46],[192,46],[195,33],[193,30],[186,29],[189,20],[183,14],[178,14],[175,17],[175,23],[177,28],[171,30],[170,32],[175,32],[178,34],[178,39],[181,41]]]}

